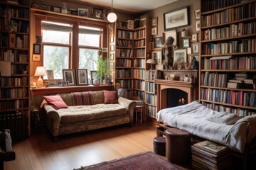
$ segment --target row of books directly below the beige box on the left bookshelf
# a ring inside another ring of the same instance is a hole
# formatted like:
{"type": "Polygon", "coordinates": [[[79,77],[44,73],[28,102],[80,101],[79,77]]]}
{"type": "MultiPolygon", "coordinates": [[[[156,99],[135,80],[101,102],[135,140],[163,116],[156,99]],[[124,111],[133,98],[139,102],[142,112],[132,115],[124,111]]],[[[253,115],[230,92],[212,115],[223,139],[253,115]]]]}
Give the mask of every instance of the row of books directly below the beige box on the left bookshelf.
{"type": "Polygon", "coordinates": [[[28,86],[28,77],[1,77],[0,86],[28,86]]]}

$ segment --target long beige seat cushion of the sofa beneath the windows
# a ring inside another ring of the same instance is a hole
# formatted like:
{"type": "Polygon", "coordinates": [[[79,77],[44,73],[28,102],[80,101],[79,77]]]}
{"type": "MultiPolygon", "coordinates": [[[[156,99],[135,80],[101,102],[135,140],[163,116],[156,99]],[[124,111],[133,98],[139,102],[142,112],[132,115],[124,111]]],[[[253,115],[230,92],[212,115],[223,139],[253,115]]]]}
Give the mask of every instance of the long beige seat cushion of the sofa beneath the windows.
{"type": "Polygon", "coordinates": [[[59,109],[60,123],[78,123],[102,118],[127,115],[127,109],[119,104],[97,104],[91,106],[70,106],[59,109]]]}

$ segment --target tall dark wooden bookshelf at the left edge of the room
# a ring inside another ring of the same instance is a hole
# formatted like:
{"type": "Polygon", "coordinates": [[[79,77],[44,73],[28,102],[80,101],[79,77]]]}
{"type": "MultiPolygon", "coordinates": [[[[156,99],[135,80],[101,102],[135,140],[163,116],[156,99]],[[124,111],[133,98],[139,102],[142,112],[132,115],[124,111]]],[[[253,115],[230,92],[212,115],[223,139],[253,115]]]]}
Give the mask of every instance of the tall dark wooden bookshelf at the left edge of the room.
{"type": "Polygon", "coordinates": [[[0,130],[14,141],[28,135],[29,0],[0,1],[0,130]]]}

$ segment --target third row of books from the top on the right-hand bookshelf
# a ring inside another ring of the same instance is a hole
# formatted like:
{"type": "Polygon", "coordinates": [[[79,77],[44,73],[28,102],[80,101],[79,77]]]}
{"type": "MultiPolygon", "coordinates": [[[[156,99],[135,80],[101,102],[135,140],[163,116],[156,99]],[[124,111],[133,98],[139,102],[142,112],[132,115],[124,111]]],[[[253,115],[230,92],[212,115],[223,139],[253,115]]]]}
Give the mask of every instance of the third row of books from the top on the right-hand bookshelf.
{"type": "Polygon", "coordinates": [[[225,28],[212,28],[202,31],[202,40],[215,40],[220,38],[230,38],[240,35],[250,35],[256,33],[256,23],[231,24],[225,28]]]}

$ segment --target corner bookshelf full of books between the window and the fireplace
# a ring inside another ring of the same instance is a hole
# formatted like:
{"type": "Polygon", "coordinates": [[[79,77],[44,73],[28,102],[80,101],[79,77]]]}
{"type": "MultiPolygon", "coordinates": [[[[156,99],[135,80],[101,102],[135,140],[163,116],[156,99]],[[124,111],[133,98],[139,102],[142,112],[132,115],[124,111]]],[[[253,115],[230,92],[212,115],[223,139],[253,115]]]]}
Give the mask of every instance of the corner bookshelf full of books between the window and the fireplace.
{"type": "MultiPolygon", "coordinates": [[[[124,87],[128,96],[144,100],[146,54],[149,52],[149,26],[128,29],[123,22],[115,23],[114,86],[124,87]]],[[[110,51],[111,53],[111,51],[110,51]]]]}

